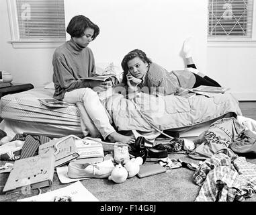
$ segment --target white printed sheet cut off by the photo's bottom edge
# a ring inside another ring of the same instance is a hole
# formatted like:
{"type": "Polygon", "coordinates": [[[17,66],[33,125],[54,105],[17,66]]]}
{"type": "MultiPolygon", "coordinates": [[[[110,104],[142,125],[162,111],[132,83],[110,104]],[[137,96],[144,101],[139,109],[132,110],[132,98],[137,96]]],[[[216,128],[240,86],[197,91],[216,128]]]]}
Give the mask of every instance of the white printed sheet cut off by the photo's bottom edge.
{"type": "Polygon", "coordinates": [[[99,200],[80,181],[77,181],[67,187],[20,199],[17,202],[99,202],[99,200]]]}

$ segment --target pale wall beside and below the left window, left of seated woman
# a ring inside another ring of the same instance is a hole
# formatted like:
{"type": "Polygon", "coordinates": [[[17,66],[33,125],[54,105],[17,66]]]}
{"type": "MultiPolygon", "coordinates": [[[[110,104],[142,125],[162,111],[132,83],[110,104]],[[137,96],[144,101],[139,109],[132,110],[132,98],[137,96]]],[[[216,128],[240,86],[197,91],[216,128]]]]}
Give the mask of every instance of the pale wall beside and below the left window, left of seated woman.
{"type": "Polygon", "coordinates": [[[0,69],[13,76],[13,82],[32,83],[35,87],[52,80],[54,48],[15,49],[11,40],[7,1],[0,0],[0,69]]]}

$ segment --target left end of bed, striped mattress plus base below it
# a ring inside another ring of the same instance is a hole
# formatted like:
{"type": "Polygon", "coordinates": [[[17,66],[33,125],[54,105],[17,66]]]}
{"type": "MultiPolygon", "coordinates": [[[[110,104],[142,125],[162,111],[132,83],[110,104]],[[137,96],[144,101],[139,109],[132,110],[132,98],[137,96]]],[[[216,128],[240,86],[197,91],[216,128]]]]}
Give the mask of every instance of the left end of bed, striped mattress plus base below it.
{"type": "Polygon", "coordinates": [[[83,134],[76,105],[49,108],[38,99],[52,98],[54,89],[35,88],[5,95],[0,101],[0,129],[9,136],[32,132],[41,134],[83,134]]]}

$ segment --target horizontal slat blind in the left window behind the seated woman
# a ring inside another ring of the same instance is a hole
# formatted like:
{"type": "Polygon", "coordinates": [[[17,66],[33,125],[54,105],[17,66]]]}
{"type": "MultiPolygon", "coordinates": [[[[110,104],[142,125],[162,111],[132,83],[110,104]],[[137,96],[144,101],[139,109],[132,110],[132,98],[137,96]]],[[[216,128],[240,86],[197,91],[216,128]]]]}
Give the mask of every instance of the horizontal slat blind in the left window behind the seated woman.
{"type": "Polygon", "coordinates": [[[65,39],[64,0],[16,0],[19,38],[65,39]]]}

